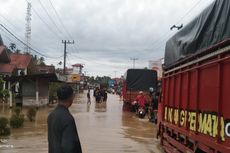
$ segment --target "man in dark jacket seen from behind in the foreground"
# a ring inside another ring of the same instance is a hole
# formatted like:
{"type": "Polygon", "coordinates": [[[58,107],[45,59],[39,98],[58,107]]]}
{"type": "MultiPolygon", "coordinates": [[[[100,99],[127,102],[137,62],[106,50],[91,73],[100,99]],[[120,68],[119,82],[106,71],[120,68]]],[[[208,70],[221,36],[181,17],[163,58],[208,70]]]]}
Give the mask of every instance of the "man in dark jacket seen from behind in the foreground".
{"type": "Polygon", "coordinates": [[[58,105],[48,116],[49,153],[82,153],[73,116],[68,108],[74,99],[73,89],[58,88],[58,105]]]}

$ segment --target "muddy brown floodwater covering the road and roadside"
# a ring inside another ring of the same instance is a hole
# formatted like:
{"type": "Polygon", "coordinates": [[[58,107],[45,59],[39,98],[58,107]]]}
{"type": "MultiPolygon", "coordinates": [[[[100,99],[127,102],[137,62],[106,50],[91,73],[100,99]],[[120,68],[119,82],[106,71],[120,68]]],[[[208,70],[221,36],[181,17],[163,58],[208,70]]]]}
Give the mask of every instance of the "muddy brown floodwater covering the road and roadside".
{"type": "MultiPolygon", "coordinates": [[[[92,94],[91,94],[92,97],[92,94]]],[[[7,141],[0,142],[0,153],[47,153],[47,116],[55,105],[39,108],[35,122],[12,129],[7,141]]],[[[122,101],[108,95],[107,103],[87,103],[86,94],[78,94],[70,108],[83,153],[161,153],[156,127],[148,119],[122,111],[122,101]]],[[[23,109],[26,112],[26,109],[23,109]]],[[[10,116],[7,106],[0,106],[1,116],[10,116]]]]}

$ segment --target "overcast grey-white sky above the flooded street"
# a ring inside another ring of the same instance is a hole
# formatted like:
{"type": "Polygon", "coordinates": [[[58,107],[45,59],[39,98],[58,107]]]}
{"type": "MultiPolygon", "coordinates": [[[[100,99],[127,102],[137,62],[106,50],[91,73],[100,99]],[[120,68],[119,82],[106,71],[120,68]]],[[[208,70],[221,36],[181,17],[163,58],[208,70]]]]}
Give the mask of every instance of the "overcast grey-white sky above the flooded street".
{"type": "MultiPolygon", "coordinates": [[[[132,68],[148,67],[164,56],[165,42],[214,0],[28,0],[31,46],[58,67],[67,45],[67,65],[82,63],[89,75],[120,76],[132,68]],[[55,10],[54,10],[55,8],[55,10]],[[56,12],[55,12],[56,11],[56,12]]],[[[25,41],[27,0],[0,0],[0,22],[25,41]]],[[[23,44],[0,28],[5,45],[23,44]]],[[[32,52],[34,53],[34,52],[32,52]]],[[[34,53],[35,54],[35,53],[34,53]]],[[[60,66],[59,66],[60,67],[60,66]]]]}

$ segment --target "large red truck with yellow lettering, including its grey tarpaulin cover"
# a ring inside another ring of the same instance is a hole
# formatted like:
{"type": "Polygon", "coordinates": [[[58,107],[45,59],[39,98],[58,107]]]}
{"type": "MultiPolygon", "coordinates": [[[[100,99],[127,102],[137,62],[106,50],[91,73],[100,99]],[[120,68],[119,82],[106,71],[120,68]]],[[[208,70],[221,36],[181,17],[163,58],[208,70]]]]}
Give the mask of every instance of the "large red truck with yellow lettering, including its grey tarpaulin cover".
{"type": "Polygon", "coordinates": [[[230,153],[229,0],[167,41],[158,127],[168,153],[230,153]]]}

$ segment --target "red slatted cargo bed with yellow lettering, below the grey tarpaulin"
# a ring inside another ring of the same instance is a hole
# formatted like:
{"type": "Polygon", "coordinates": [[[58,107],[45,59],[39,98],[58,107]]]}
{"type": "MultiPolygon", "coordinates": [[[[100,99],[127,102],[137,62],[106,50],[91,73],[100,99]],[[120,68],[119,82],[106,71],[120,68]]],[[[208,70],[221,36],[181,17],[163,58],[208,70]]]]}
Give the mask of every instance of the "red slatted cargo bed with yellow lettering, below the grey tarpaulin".
{"type": "Polygon", "coordinates": [[[166,151],[229,153],[229,100],[229,39],[168,68],[158,115],[166,151]]]}

